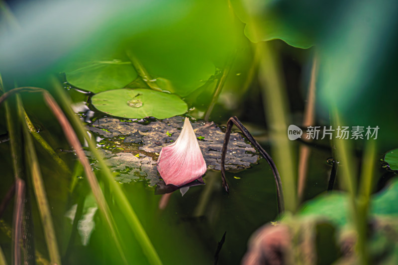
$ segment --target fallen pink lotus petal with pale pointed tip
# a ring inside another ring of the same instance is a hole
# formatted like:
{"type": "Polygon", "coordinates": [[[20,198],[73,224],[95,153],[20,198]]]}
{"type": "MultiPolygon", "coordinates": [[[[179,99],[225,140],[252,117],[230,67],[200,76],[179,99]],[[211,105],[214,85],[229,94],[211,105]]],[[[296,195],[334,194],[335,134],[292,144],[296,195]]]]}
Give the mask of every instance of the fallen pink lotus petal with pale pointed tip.
{"type": "Polygon", "coordinates": [[[206,172],[206,162],[188,118],[185,118],[176,142],[160,151],[157,168],[166,184],[176,186],[185,185],[198,178],[201,180],[201,176],[206,172]]]}

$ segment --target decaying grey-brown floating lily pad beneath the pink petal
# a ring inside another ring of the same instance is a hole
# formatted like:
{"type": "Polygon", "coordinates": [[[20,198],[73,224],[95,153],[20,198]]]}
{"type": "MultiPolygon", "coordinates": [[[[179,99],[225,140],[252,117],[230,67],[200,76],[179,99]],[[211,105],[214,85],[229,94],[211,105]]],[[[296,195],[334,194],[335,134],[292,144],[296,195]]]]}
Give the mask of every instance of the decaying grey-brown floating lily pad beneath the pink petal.
{"type": "MultiPolygon", "coordinates": [[[[184,118],[176,116],[164,120],[130,121],[104,117],[96,120],[88,129],[100,138],[106,163],[112,171],[120,172],[119,182],[148,179],[149,185],[159,183],[156,161],[163,146],[177,140],[184,118]],[[134,177],[134,176],[138,176],[134,177]]],[[[192,127],[207,169],[220,170],[222,145],[225,133],[213,122],[195,121],[192,127]]],[[[87,155],[92,157],[88,152],[87,155]]],[[[237,132],[231,133],[225,158],[226,170],[242,170],[259,160],[256,150],[237,132]]]]}

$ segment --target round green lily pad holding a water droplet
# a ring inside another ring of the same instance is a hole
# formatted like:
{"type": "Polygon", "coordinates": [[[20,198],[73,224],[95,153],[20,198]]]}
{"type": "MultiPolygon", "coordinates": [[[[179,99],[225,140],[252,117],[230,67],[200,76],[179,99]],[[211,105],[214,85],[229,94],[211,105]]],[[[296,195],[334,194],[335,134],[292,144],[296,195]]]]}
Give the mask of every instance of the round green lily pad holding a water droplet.
{"type": "Polygon", "coordinates": [[[104,91],[94,95],[91,102],[112,116],[134,119],[165,119],[188,110],[187,103],[177,95],[144,88],[104,91]]]}

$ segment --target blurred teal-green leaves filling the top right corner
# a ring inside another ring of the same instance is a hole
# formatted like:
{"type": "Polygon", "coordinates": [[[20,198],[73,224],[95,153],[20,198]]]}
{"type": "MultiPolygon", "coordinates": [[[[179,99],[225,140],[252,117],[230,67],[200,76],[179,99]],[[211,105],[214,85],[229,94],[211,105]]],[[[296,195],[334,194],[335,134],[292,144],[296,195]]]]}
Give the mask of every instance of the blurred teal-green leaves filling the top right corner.
{"type": "Polygon", "coordinates": [[[282,39],[319,57],[316,108],[337,108],[347,125],[379,125],[378,142],[397,144],[397,1],[233,0],[253,42],[282,39]]]}

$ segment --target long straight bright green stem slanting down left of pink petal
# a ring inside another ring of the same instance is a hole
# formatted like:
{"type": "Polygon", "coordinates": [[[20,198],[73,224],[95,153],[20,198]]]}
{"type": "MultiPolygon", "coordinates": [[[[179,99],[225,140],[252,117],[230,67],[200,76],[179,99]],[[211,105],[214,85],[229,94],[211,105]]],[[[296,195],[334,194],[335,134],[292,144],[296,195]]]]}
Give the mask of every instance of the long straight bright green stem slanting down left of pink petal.
{"type": "Polygon", "coordinates": [[[129,220],[128,224],[130,225],[131,230],[133,231],[137,241],[141,245],[141,248],[145,255],[147,256],[148,261],[151,265],[162,265],[162,261],[159,258],[158,253],[156,252],[154,246],[152,245],[151,240],[149,239],[145,229],[143,228],[140,220],[138,219],[135,211],[131,207],[130,203],[128,202],[123,190],[121,187],[116,183],[114,177],[108,167],[106,166],[105,162],[102,159],[100,152],[97,150],[97,146],[93,141],[90,139],[89,135],[87,134],[86,129],[84,128],[81,120],[78,116],[73,112],[70,108],[72,102],[70,98],[66,95],[65,91],[63,90],[62,86],[60,85],[59,81],[55,78],[52,80],[53,86],[59,95],[61,103],[68,114],[71,122],[73,123],[75,129],[79,133],[80,136],[86,139],[87,143],[89,144],[89,148],[93,155],[98,160],[100,168],[103,171],[103,176],[106,178],[108,185],[114,194],[114,199],[117,205],[123,209],[122,213],[124,214],[125,218],[129,220]]]}

